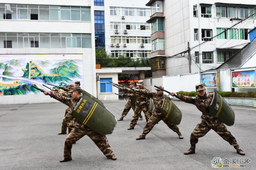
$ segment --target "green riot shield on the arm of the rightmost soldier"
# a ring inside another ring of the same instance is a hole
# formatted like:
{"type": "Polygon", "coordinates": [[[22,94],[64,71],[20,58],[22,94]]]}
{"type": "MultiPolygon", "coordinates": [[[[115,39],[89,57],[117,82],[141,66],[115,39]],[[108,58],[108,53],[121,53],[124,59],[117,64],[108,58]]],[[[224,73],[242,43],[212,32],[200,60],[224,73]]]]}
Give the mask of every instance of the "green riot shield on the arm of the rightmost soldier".
{"type": "Polygon", "coordinates": [[[235,123],[235,113],[230,105],[221,97],[221,95],[214,89],[212,103],[209,107],[212,115],[217,117],[221,122],[228,126],[235,123]]]}

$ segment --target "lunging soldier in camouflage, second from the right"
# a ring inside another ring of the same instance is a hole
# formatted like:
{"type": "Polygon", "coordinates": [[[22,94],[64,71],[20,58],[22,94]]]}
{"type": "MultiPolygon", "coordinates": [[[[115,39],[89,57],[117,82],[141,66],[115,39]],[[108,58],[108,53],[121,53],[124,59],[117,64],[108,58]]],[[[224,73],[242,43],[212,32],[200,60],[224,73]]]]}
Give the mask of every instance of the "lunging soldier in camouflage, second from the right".
{"type": "MultiPolygon", "coordinates": [[[[159,86],[159,87],[163,88],[163,86],[159,86]]],[[[149,98],[152,98],[154,101],[154,110],[153,110],[152,116],[148,119],[148,122],[144,127],[142,135],[140,135],[138,138],[136,138],[136,140],[145,139],[145,136],[152,130],[154,125],[156,125],[158,122],[160,122],[160,120],[163,120],[163,122],[170,129],[172,129],[174,132],[176,132],[178,134],[180,139],[183,139],[183,136],[181,135],[179,128],[176,125],[174,125],[171,121],[166,119],[163,116],[163,114],[161,113],[161,107],[163,105],[164,97],[166,95],[163,94],[163,91],[161,91],[160,89],[155,89],[155,90],[157,90],[156,93],[152,93],[150,91],[145,91],[145,90],[140,90],[140,89],[135,89],[135,91],[145,94],[149,98]]]]}

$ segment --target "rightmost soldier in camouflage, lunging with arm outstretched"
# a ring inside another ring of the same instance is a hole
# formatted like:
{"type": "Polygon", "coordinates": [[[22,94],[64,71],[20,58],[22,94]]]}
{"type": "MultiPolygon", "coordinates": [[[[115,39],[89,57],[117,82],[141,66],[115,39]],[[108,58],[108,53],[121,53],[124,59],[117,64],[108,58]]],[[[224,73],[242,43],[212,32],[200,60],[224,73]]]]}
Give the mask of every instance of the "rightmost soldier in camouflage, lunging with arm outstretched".
{"type": "Polygon", "coordinates": [[[244,151],[239,148],[239,145],[236,142],[236,139],[231,135],[230,131],[227,130],[227,127],[219,119],[213,116],[209,112],[209,106],[212,102],[213,94],[208,94],[205,91],[204,84],[198,84],[195,86],[197,96],[189,97],[183,96],[176,93],[171,93],[172,96],[177,96],[178,99],[186,103],[191,103],[195,105],[199,111],[203,113],[201,116],[201,122],[196,125],[195,129],[190,136],[191,147],[188,151],[184,152],[185,155],[195,153],[195,144],[198,143],[198,138],[206,135],[209,130],[214,130],[221,136],[225,141],[229,142],[232,145],[236,152],[240,155],[245,155],[244,151]]]}

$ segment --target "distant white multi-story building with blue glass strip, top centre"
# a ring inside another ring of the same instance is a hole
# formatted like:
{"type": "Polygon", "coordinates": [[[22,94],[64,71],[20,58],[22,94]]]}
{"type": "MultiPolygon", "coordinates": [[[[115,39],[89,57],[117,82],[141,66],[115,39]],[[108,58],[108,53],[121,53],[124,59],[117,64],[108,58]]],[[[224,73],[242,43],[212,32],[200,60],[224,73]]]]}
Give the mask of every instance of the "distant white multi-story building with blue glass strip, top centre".
{"type": "Polygon", "coordinates": [[[151,57],[151,24],[146,23],[150,8],[146,2],[94,0],[96,48],[103,46],[115,57],[151,57]]]}

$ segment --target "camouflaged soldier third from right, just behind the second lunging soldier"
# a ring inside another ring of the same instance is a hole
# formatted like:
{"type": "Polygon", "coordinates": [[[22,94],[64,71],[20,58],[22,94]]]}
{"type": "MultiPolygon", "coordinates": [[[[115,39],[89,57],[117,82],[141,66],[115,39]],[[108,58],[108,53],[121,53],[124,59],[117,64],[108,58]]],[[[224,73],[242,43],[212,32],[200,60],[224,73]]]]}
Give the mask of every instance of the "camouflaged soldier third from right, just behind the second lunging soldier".
{"type": "MultiPolygon", "coordinates": [[[[121,87],[119,87],[119,88],[121,88],[121,87]]],[[[148,91],[148,89],[145,88],[143,85],[143,80],[139,80],[138,87],[136,87],[136,88],[148,91]]],[[[141,111],[144,112],[145,119],[148,122],[148,119],[150,118],[150,116],[149,116],[149,111],[148,111],[149,99],[147,99],[147,96],[142,93],[137,93],[130,88],[121,88],[121,89],[126,89],[129,93],[131,93],[131,94],[125,94],[125,96],[128,96],[128,97],[136,96],[136,107],[134,110],[134,116],[133,116],[133,119],[131,120],[130,127],[128,128],[128,130],[134,129],[134,127],[139,119],[141,111]]]]}

